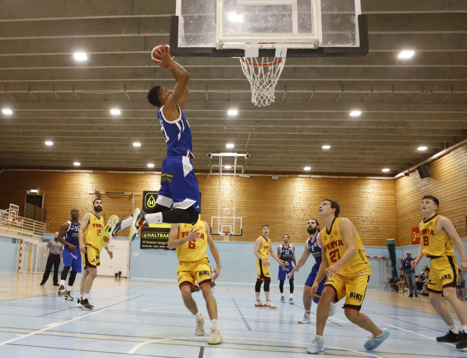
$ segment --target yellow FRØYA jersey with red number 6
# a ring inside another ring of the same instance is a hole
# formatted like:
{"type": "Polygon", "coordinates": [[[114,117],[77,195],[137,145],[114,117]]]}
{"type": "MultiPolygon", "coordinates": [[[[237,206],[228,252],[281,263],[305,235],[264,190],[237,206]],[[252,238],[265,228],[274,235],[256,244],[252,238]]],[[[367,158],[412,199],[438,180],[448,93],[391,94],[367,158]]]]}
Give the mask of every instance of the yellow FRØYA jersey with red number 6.
{"type": "Polygon", "coordinates": [[[207,257],[206,246],[207,246],[207,233],[206,227],[202,220],[198,220],[195,225],[191,224],[180,224],[178,228],[177,240],[188,235],[193,230],[199,229],[198,239],[187,241],[183,245],[180,245],[175,250],[177,251],[178,261],[199,261],[207,257]]]}

